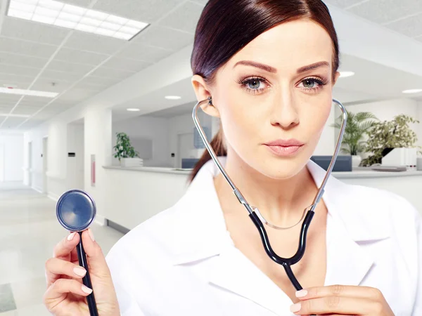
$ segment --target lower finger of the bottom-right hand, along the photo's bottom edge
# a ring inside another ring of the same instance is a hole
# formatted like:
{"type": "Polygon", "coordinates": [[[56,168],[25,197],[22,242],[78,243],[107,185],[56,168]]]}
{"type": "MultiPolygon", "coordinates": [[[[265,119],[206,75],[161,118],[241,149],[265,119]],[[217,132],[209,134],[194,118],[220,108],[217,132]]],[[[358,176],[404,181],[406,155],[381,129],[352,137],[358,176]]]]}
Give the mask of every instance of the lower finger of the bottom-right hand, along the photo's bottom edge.
{"type": "Polygon", "coordinates": [[[323,298],[311,298],[292,305],[290,310],[295,315],[373,315],[373,301],[366,298],[352,298],[345,296],[326,296],[323,298]],[[357,306],[359,308],[357,308],[357,306]],[[359,309],[359,312],[357,312],[359,309]]]}

